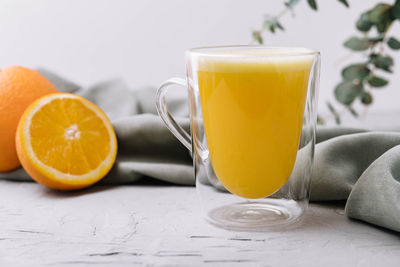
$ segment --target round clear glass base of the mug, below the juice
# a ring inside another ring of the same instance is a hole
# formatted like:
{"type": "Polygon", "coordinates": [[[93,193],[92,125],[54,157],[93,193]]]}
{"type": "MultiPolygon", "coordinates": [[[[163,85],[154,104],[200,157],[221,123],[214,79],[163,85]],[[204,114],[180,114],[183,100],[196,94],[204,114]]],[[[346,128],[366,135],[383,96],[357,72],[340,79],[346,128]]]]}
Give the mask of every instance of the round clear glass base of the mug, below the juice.
{"type": "Polygon", "coordinates": [[[303,210],[294,200],[263,199],[214,208],[208,212],[207,220],[227,230],[259,232],[292,226],[303,210]]]}

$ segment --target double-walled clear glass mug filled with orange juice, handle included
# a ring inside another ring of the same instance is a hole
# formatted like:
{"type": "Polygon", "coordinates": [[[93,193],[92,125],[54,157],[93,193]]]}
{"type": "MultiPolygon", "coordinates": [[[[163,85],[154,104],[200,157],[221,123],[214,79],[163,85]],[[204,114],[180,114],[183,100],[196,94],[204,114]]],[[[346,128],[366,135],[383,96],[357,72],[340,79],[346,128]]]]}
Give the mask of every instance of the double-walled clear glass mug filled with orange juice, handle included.
{"type": "Polygon", "coordinates": [[[225,46],[186,52],[187,79],[157,92],[158,113],[193,157],[206,219],[238,231],[299,221],[308,206],[320,54],[306,48],[225,46]],[[191,136],[166,103],[189,91],[191,136]]]}

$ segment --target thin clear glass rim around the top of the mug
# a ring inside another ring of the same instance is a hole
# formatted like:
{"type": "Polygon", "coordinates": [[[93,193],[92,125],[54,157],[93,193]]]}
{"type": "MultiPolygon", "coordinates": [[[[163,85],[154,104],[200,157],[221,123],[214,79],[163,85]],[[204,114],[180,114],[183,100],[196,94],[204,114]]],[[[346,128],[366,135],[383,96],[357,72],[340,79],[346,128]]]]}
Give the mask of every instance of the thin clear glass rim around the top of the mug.
{"type": "Polygon", "coordinates": [[[212,57],[293,57],[293,56],[315,56],[319,55],[320,51],[313,48],[296,47],[296,46],[267,46],[267,45],[220,45],[220,46],[200,46],[190,48],[186,51],[187,54],[197,56],[212,56],[212,57]],[[266,55],[257,54],[235,54],[235,53],[218,53],[216,51],[229,51],[229,50],[267,50],[267,51],[290,51],[288,54],[271,54],[266,55]]]}

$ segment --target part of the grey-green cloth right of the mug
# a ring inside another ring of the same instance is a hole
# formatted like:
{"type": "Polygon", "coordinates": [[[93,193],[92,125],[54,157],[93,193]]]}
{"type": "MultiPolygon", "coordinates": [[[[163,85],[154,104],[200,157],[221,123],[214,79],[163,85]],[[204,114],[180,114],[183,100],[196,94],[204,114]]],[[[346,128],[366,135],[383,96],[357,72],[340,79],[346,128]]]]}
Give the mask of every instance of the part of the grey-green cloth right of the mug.
{"type": "Polygon", "coordinates": [[[400,232],[400,133],[320,128],[311,201],[345,200],[350,218],[400,232]]]}

